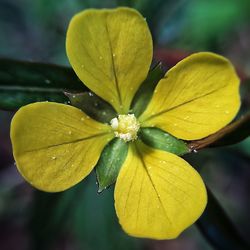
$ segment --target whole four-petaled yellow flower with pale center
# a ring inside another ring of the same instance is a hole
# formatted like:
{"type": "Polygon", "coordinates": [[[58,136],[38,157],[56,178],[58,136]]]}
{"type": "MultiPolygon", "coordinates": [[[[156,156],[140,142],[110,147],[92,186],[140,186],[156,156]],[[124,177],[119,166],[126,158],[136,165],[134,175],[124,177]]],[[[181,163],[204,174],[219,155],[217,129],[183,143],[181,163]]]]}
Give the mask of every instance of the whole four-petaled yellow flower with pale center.
{"type": "Polygon", "coordinates": [[[145,111],[130,105],[152,61],[152,38],[135,10],[87,10],[70,22],[66,50],[78,77],[117,111],[110,124],[57,103],[21,108],[11,124],[18,170],[34,187],[58,192],[84,179],[114,137],[129,150],[115,186],[115,209],[130,235],[177,237],[202,214],[200,175],[175,154],[145,145],[137,132],[157,127],[183,140],[206,137],[228,124],[239,106],[239,79],[231,63],[213,53],[179,62],[160,80],[145,111]]]}

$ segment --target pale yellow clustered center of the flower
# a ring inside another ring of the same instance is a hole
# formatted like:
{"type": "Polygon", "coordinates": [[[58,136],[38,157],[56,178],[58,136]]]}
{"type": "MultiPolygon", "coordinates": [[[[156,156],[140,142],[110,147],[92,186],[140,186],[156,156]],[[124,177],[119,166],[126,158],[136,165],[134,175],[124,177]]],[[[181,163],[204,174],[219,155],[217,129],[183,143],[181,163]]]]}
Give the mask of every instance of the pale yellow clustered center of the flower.
{"type": "Polygon", "coordinates": [[[137,132],[140,124],[134,114],[119,115],[110,121],[115,136],[124,141],[134,141],[137,139],[137,132]]]}

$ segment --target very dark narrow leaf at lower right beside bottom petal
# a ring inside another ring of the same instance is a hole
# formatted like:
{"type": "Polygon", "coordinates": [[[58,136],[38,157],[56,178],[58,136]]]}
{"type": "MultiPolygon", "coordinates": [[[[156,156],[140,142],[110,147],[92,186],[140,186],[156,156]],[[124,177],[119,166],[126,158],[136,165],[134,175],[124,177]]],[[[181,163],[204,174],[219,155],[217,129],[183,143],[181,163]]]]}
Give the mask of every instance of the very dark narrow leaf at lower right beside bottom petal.
{"type": "Polygon", "coordinates": [[[207,207],[196,225],[207,240],[220,250],[247,250],[250,246],[242,239],[232,221],[208,189],[207,207]]]}

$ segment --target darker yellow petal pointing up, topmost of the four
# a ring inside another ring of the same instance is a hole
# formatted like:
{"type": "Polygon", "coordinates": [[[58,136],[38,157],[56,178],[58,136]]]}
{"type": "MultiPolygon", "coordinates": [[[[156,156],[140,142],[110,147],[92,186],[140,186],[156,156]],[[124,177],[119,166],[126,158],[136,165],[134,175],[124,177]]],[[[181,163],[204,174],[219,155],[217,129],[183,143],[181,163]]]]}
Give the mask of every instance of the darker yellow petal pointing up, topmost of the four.
{"type": "Polygon", "coordinates": [[[98,96],[127,113],[152,60],[152,38],[135,10],[86,10],[69,24],[66,50],[78,77],[98,96]]]}

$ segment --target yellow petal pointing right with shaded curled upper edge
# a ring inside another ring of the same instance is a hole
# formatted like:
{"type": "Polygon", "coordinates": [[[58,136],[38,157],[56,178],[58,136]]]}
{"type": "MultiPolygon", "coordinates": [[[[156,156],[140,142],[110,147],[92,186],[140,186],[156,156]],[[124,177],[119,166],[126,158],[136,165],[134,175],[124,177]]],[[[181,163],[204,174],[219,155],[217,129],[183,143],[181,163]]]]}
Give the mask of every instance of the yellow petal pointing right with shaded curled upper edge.
{"type": "Polygon", "coordinates": [[[140,121],[185,140],[206,137],[228,124],[240,107],[239,78],[224,57],[193,54],[158,83],[140,121]]]}

